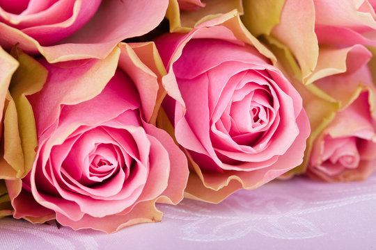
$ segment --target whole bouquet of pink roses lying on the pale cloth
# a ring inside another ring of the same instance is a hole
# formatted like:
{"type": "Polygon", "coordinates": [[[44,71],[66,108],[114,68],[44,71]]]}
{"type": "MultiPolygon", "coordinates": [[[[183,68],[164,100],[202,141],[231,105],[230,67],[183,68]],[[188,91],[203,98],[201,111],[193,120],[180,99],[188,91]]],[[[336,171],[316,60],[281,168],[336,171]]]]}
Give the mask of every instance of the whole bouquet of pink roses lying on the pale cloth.
{"type": "Polygon", "coordinates": [[[376,1],[0,1],[0,217],[111,233],[376,168],[376,1]]]}

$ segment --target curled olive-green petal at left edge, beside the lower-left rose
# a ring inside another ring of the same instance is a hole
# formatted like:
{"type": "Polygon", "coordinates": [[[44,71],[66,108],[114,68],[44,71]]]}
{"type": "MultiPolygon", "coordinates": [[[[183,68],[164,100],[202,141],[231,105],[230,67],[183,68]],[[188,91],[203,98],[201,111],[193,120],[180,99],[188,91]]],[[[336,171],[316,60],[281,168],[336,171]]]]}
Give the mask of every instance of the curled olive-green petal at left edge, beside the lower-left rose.
{"type": "Polygon", "coordinates": [[[19,67],[13,74],[7,96],[8,107],[4,119],[4,159],[15,169],[15,176],[22,178],[36,156],[38,146],[33,109],[26,95],[35,94],[42,89],[47,79],[47,70],[34,58],[18,51],[19,67]]]}

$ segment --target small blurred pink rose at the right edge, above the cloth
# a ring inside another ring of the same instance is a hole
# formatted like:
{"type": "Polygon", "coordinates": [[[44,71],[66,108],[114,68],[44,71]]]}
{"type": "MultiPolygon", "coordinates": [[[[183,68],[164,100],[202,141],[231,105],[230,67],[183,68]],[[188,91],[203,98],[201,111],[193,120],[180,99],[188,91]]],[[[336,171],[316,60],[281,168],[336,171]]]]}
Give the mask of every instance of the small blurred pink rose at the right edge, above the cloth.
{"type": "Polygon", "coordinates": [[[376,92],[370,70],[365,65],[316,84],[343,107],[313,142],[306,174],[324,181],[363,180],[376,168],[376,92]]]}

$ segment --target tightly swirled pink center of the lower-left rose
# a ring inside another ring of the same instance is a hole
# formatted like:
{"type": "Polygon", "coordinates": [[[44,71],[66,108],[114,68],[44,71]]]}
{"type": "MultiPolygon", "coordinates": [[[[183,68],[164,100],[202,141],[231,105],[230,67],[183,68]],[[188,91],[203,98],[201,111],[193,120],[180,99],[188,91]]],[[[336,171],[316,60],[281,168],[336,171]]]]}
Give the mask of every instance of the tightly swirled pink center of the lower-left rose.
{"type": "Polygon", "coordinates": [[[72,149],[61,165],[61,186],[70,192],[82,194],[86,190],[88,195],[99,195],[98,191],[109,183],[123,186],[133,165],[134,158],[106,129],[95,128],[72,142],[72,149]]]}

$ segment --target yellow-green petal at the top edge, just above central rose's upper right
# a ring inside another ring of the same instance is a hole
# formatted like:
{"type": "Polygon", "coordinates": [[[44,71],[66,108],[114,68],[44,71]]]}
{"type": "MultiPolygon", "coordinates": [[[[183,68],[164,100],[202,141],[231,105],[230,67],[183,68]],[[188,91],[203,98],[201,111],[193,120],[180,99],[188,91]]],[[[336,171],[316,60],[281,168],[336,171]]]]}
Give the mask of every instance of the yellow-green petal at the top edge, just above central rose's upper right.
{"type": "Polygon", "coordinates": [[[243,1],[242,21],[252,35],[270,35],[279,24],[285,0],[247,0],[243,1]]]}

